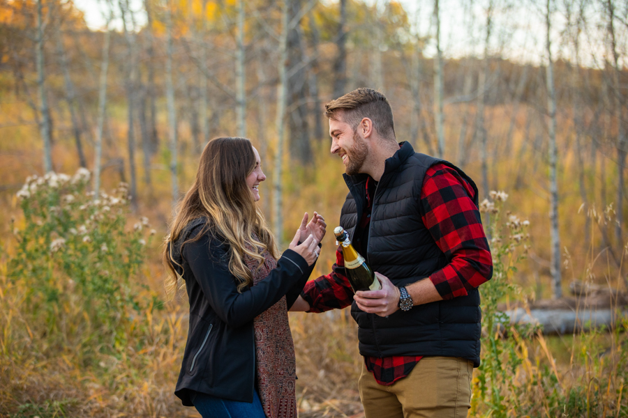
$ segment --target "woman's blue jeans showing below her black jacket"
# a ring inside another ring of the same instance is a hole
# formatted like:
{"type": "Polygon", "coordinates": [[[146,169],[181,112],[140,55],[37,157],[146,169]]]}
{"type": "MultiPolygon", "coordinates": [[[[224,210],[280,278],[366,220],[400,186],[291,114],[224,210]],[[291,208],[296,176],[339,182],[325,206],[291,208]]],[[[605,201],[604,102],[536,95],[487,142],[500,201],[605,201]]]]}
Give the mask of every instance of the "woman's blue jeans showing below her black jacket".
{"type": "Polygon", "coordinates": [[[253,393],[253,403],[229,401],[200,392],[193,394],[191,400],[203,418],[266,418],[257,391],[253,393]]]}

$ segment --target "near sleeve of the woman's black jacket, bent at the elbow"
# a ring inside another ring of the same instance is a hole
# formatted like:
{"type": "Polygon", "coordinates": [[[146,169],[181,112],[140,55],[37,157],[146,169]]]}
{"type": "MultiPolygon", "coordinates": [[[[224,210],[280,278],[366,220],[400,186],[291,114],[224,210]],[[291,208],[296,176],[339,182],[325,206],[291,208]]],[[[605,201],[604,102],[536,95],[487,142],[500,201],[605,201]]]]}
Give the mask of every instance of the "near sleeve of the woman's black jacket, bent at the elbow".
{"type": "Polygon", "coordinates": [[[227,244],[204,234],[184,245],[183,256],[204,297],[230,327],[241,327],[269,309],[311,271],[303,257],[287,249],[266,278],[238,293],[237,279],[229,271],[227,249],[227,244]]]}

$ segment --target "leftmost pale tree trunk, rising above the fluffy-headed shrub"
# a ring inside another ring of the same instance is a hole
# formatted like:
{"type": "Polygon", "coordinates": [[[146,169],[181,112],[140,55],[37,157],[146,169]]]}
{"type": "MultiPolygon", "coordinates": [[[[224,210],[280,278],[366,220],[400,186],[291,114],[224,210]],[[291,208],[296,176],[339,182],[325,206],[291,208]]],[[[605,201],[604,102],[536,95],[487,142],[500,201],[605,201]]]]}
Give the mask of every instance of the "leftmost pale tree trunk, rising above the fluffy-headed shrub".
{"type": "Polygon", "coordinates": [[[50,123],[50,109],[48,108],[48,100],[46,98],[46,76],[43,52],[43,33],[44,22],[42,16],[42,0],[37,0],[37,47],[36,47],[36,65],[37,65],[37,86],[39,91],[39,113],[41,139],[43,140],[43,167],[44,171],[52,171],[52,132],[50,123]]]}

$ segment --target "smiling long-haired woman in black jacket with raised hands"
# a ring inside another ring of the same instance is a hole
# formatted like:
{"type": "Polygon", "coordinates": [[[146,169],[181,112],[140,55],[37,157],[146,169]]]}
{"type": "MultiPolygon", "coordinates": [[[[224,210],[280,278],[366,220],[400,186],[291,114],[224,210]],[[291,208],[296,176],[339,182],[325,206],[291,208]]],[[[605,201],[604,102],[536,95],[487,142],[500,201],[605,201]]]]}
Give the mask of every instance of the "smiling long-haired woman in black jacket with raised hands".
{"type": "Polygon", "coordinates": [[[255,201],[266,179],[248,139],[210,141],[177,211],[164,251],[182,277],[190,327],[175,394],[202,417],[297,417],[294,346],[287,309],[297,299],[325,233],[306,213],[278,258],[255,201]]]}

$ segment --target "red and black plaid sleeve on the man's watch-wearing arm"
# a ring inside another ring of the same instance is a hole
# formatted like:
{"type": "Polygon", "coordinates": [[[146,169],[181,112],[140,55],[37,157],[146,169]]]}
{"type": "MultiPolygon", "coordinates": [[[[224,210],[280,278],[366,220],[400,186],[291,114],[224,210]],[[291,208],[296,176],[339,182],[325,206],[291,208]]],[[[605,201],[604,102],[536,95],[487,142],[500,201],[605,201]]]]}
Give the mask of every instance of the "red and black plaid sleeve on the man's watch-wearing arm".
{"type": "Polygon", "coordinates": [[[421,189],[421,219],[449,264],[431,274],[443,299],[467,295],[493,276],[493,258],[473,203],[474,189],[444,164],[428,169],[421,189]]]}

